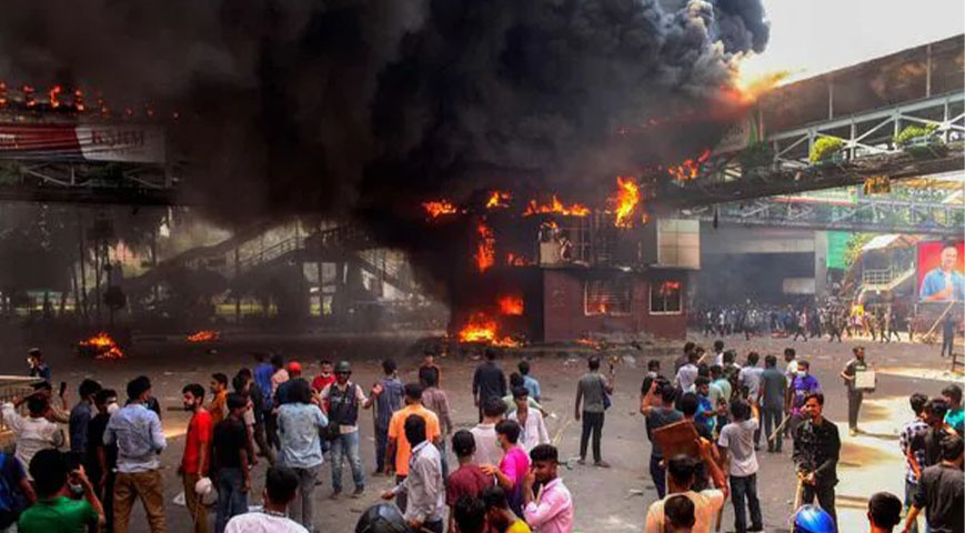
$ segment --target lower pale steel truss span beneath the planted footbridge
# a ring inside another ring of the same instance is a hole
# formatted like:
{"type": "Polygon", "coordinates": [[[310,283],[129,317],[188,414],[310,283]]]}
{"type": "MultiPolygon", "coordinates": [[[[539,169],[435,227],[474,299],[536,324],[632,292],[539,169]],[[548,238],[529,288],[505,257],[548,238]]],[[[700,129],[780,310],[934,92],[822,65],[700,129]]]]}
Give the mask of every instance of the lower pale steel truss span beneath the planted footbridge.
{"type": "Polygon", "coordinates": [[[853,203],[776,197],[682,210],[724,224],[961,237],[965,205],[862,197],[853,203]]]}

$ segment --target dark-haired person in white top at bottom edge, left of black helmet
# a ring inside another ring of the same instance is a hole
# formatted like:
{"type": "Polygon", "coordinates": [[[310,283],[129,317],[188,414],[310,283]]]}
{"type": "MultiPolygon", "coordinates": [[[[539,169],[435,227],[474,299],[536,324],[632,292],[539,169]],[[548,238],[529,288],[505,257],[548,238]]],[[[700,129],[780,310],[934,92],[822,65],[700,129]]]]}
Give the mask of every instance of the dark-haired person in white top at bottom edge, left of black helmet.
{"type": "Polygon", "coordinates": [[[271,466],[264,475],[261,511],[232,516],[224,533],[308,533],[309,530],[285,514],[298,487],[299,476],[293,470],[271,466]]]}

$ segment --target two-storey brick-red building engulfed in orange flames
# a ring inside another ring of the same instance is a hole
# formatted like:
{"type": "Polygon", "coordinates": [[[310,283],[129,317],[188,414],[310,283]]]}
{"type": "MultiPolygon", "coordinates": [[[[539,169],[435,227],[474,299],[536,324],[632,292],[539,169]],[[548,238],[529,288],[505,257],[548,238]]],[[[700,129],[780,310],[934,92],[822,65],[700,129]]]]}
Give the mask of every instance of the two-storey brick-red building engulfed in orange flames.
{"type": "Polygon", "coordinates": [[[616,192],[595,209],[552,195],[522,209],[487,202],[450,214],[433,223],[460,227],[466,238],[450,282],[449,329],[461,342],[685,335],[698,227],[651,220],[633,178],[619,178],[616,192]]]}

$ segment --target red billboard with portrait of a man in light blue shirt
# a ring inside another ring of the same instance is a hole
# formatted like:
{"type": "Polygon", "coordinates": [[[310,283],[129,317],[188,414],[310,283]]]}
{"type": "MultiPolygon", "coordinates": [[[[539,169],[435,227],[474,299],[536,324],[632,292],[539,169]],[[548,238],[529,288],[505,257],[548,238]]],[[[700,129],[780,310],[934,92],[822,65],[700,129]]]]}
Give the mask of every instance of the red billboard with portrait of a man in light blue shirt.
{"type": "Polygon", "coordinates": [[[918,298],[923,302],[965,300],[965,241],[918,243],[918,298]]]}

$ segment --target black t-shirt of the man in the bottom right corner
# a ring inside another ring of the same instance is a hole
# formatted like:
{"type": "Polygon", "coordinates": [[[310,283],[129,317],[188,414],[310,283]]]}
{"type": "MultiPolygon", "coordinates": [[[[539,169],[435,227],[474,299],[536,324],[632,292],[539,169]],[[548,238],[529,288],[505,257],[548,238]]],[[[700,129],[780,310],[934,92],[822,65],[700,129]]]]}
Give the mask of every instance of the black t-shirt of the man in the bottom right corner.
{"type": "Polygon", "coordinates": [[[965,476],[961,470],[944,464],[928,466],[918,480],[915,506],[925,509],[933,533],[965,531],[965,476]]]}

